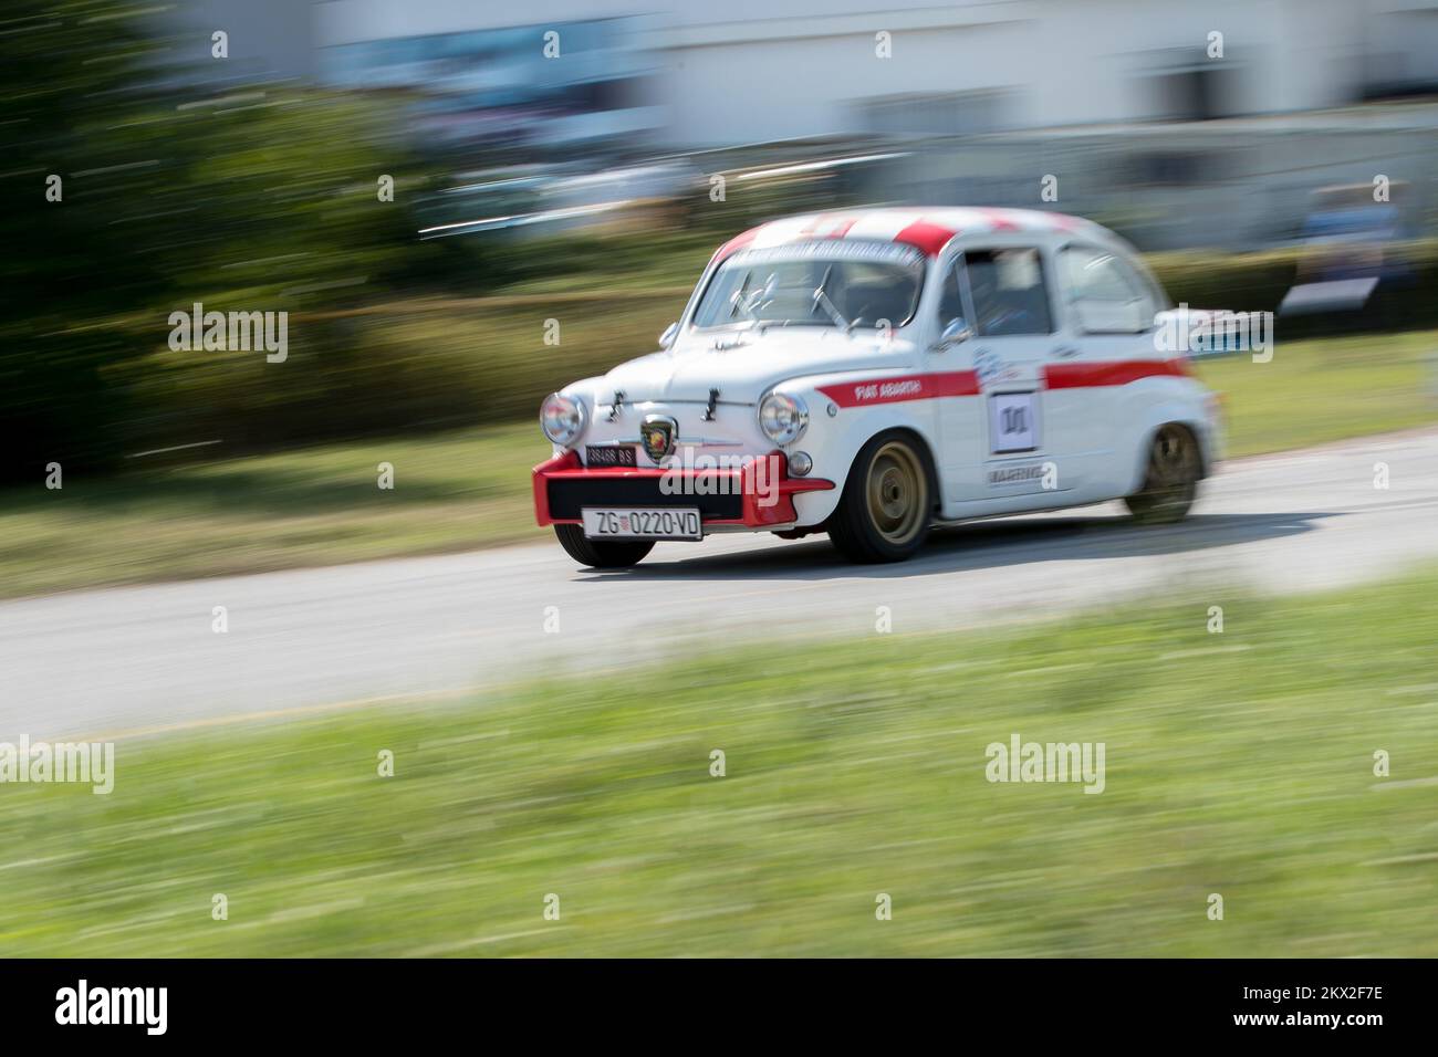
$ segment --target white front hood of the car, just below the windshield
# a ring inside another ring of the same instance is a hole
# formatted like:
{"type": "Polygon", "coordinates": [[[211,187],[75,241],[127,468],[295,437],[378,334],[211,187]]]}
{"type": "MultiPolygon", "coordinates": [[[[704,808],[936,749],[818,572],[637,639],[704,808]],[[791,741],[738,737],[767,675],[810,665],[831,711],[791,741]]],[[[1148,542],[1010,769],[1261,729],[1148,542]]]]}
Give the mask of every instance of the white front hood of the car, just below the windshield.
{"type": "Polygon", "coordinates": [[[771,385],[805,374],[883,370],[907,347],[880,342],[871,332],[847,335],[833,328],[771,328],[766,334],[725,332],[716,338],[689,338],[667,352],[654,352],[620,364],[595,380],[594,398],[608,403],[615,391],[626,403],[709,400],[719,390],[725,403],[758,403],[771,385]]]}

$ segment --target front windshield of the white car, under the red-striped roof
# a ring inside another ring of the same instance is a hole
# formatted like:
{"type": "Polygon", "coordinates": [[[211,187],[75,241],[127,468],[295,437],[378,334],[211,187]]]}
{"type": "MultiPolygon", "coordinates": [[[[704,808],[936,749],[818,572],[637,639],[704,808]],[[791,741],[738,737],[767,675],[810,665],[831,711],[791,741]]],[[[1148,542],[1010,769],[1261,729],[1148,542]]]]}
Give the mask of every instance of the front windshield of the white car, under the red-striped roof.
{"type": "Polygon", "coordinates": [[[903,326],[919,305],[923,260],[912,246],[834,239],[741,250],[709,280],[693,325],[903,326]]]}

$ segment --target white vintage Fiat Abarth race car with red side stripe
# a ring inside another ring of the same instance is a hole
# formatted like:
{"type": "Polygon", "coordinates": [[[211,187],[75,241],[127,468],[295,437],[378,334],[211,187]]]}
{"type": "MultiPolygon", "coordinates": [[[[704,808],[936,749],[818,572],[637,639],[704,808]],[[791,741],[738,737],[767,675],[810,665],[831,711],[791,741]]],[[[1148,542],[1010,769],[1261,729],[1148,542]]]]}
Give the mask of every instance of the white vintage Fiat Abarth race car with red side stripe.
{"type": "Polygon", "coordinates": [[[600,568],[728,531],[897,561],[936,523],[1120,498],[1176,521],[1219,429],[1166,309],[1057,213],[775,220],[715,253],[663,351],[544,401],[535,513],[600,568]]]}

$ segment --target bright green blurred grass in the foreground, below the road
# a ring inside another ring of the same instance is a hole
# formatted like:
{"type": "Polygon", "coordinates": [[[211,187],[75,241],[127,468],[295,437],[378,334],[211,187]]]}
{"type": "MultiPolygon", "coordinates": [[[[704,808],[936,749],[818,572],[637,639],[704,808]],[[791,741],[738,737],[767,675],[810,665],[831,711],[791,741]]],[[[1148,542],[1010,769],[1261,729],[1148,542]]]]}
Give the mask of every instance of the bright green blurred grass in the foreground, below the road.
{"type": "Polygon", "coordinates": [[[0,797],[0,948],[1432,956],[1435,628],[1434,572],[1215,590],[121,739],[108,797],[0,797]],[[1015,732],[1104,742],[1106,790],[989,784],[1015,732]]]}

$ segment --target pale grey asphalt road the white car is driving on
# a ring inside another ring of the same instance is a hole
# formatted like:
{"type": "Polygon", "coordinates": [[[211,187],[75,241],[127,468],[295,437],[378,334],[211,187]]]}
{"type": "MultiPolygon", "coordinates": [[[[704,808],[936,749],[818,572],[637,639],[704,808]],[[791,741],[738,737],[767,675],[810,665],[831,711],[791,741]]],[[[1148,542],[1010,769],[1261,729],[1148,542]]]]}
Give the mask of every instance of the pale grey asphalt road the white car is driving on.
{"type": "Polygon", "coordinates": [[[880,605],[903,634],[1171,588],[1324,588],[1438,559],[1435,515],[1438,433],[1419,433],[1228,463],[1176,526],[1107,503],[943,529],[903,565],[844,565],[824,536],[739,535],[660,544],[627,572],[545,544],[0,603],[0,741],[600,677],[702,647],[873,634],[880,605]]]}

